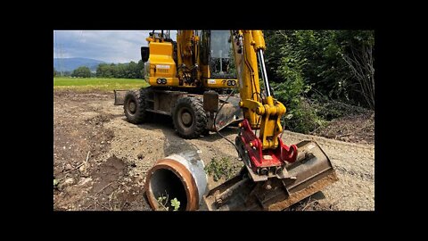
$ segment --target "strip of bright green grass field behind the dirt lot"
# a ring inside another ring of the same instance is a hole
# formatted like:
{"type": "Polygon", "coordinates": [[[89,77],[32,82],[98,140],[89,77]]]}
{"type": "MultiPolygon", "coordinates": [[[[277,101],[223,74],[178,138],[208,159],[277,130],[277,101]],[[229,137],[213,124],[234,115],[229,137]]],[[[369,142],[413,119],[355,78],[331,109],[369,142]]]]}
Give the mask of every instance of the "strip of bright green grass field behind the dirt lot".
{"type": "Polygon", "coordinates": [[[53,78],[53,89],[110,91],[113,89],[136,89],[147,86],[148,84],[144,79],[53,78]]]}

